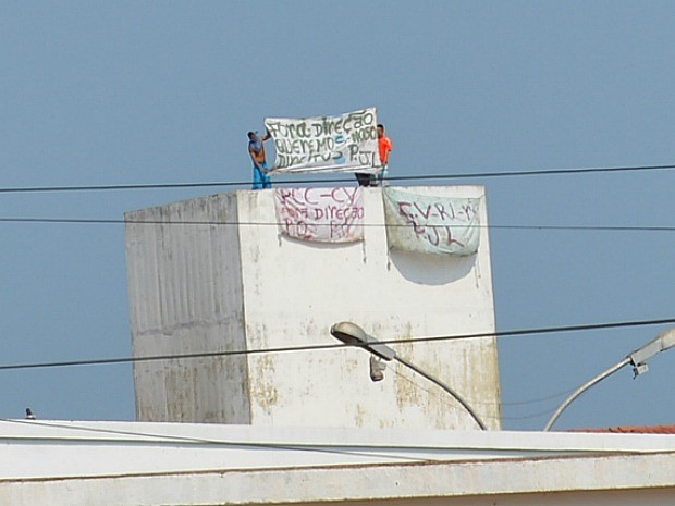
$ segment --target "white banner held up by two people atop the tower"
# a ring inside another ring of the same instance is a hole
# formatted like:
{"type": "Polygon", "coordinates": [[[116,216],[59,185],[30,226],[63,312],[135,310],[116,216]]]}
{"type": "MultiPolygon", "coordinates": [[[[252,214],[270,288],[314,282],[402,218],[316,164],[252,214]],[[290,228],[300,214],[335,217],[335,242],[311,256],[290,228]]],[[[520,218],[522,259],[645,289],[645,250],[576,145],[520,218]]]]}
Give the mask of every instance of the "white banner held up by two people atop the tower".
{"type": "Polygon", "coordinates": [[[265,120],[274,139],[272,174],[381,170],[376,109],[340,116],[265,120]]]}

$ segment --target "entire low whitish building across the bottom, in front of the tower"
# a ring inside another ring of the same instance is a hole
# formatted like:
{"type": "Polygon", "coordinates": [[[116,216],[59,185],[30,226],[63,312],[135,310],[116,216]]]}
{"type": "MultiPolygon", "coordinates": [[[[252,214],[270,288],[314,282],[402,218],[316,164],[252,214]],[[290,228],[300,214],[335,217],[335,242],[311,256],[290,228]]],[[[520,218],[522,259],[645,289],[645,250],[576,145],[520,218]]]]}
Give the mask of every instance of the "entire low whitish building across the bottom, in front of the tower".
{"type": "Polygon", "coordinates": [[[675,437],[0,421],[0,504],[675,503],[675,437]]]}

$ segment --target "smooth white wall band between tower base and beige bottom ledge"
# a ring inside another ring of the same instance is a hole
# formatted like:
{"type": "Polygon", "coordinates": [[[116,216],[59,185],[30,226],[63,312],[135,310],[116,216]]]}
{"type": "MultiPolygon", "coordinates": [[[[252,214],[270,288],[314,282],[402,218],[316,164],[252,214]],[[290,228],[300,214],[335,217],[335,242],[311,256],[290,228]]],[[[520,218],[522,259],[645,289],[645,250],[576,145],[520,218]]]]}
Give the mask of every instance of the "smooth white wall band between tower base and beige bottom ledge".
{"type": "MultiPolygon", "coordinates": [[[[517,462],[545,458],[600,459],[673,453],[675,437],[2,420],[0,446],[1,481],[451,461],[508,460],[517,468],[521,466],[517,462]]],[[[574,474],[566,479],[570,476],[574,474]]]]}

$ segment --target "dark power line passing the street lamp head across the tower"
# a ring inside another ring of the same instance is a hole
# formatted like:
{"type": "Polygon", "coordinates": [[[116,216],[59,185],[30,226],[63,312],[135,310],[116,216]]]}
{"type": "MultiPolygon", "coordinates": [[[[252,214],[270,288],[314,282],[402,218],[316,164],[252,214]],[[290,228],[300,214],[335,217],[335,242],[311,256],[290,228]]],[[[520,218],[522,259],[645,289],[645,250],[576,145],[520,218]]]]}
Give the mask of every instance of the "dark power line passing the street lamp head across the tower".
{"type": "MultiPolygon", "coordinates": [[[[580,332],[580,331],[594,331],[602,329],[625,329],[635,326],[648,326],[648,325],[662,325],[666,323],[675,323],[675,318],[661,319],[661,320],[634,320],[623,322],[610,322],[610,323],[592,323],[585,325],[567,325],[567,326],[549,326],[538,329],[521,329],[512,331],[498,331],[498,332],[481,332],[475,334],[459,334],[459,335],[441,335],[441,336],[427,336],[427,337],[406,337],[397,340],[381,340],[382,344],[405,344],[405,343],[434,343],[444,341],[458,341],[458,340],[471,340],[482,337],[516,337],[527,336],[536,334],[554,334],[565,332],[580,332]]],[[[328,334],[328,332],[327,332],[328,334]]],[[[16,369],[38,369],[38,368],[56,368],[56,367],[72,367],[72,366],[101,366],[112,363],[136,363],[147,361],[159,360],[181,360],[192,358],[210,358],[210,357],[235,357],[235,356],[248,356],[248,355],[265,355],[265,354],[278,354],[289,351],[314,351],[322,349],[335,349],[345,348],[345,344],[317,344],[305,346],[281,346],[275,348],[262,348],[262,349],[238,349],[229,351],[208,351],[198,354],[174,354],[174,355],[152,355],[146,357],[118,357],[118,358],[99,358],[88,360],[66,360],[54,362],[30,362],[30,363],[9,363],[0,366],[0,370],[16,370],[16,369]]]]}

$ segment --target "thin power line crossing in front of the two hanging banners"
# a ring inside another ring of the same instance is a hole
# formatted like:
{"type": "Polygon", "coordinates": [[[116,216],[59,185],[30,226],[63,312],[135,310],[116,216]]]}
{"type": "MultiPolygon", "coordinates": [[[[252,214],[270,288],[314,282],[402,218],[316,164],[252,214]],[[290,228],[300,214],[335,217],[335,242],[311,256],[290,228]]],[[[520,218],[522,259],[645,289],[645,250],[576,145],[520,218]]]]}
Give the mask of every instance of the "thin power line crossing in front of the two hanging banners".
{"type": "MultiPolygon", "coordinates": [[[[202,226],[281,226],[283,223],[254,222],[254,221],[205,221],[205,220],[124,220],[121,218],[30,218],[30,217],[0,217],[0,223],[36,223],[36,224],[98,224],[98,225],[202,225],[202,226]]],[[[409,227],[409,224],[397,223],[363,223],[365,227],[409,227]]],[[[433,229],[444,225],[425,225],[433,229]]],[[[492,230],[541,230],[541,231],[587,231],[587,232],[675,232],[675,226],[629,226],[629,225],[474,225],[479,229],[492,230]]]]}

